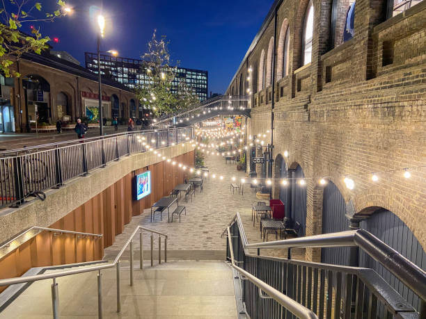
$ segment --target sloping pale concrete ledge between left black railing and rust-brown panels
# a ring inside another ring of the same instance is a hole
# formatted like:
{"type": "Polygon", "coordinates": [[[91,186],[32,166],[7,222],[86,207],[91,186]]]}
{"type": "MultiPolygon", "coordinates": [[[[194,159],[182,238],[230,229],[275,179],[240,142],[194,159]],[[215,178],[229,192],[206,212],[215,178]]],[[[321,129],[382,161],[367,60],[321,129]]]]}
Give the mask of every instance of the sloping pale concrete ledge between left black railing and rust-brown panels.
{"type": "MultiPolygon", "coordinates": [[[[161,154],[173,158],[194,150],[190,142],[164,147],[161,154]]],[[[0,243],[32,226],[49,227],[57,220],[107,189],[130,172],[161,162],[153,152],[123,156],[104,168],[93,170],[86,177],[67,181],[61,188],[47,190],[45,201],[29,199],[19,208],[5,208],[0,212],[0,243]]]]}

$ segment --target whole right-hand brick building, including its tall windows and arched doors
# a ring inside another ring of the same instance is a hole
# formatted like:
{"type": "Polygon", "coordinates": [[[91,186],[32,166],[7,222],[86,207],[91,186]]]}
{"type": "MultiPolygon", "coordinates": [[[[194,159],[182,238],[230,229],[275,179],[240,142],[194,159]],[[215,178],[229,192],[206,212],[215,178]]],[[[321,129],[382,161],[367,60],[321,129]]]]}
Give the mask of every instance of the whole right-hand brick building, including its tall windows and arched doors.
{"type": "Polygon", "coordinates": [[[226,94],[251,95],[247,134],[274,145],[272,195],[299,235],[361,227],[426,269],[425,29],[426,1],[274,1],[226,94]]]}

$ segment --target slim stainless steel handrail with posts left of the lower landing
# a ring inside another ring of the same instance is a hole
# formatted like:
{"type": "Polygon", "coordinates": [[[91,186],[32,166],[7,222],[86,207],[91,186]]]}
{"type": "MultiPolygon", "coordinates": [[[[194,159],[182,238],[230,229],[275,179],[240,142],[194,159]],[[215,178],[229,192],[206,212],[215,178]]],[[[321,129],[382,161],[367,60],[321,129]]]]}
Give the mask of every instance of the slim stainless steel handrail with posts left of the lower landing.
{"type": "MultiPolygon", "coordinates": [[[[55,229],[55,231],[62,231],[61,229],[55,229]]],[[[139,249],[140,249],[140,268],[143,269],[143,232],[142,231],[148,231],[151,233],[151,265],[153,265],[153,243],[154,238],[152,234],[159,235],[159,263],[161,263],[161,236],[164,237],[164,262],[167,262],[167,235],[160,233],[159,231],[154,231],[152,229],[148,229],[142,226],[136,227],[134,229],[132,235],[129,237],[129,239],[126,241],[123,248],[120,250],[118,255],[116,256],[116,259],[112,263],[108,263],[106,265],[95,265],[90,266],[88,268],[81,268],[81,269],[74,269],[74,270],[62,270],[59,272],[50,272],[48,274],[40,274],[40,275],[33,275],[28,277],[13,277],[13,278],[6,278],[6,279],[0,279],[0,286],[10,286],[14,284],[22,284],[25,282],[33,282],[33,281],[39,281],[44,279],[53,279],[52,284],[52,307],[53,307],[53,313],[54,318],[58,318],[58,284],[56,283],[56,278],[58,277],[65,277],[70,275],[77,275],[84,272],[93,272],[97,271],[97,293],[98,293],[98,317],[102,318],[102,274],[101,270],[105,270],[108,268],[117,268],[117,312],[120,312],[121,309],[121,301],[120,301],[120,258],[125,252],[126,248],[129,246],[130,250],[130,286],[133,286],[133,245],[132,240],[134,236],[139,231],[139,249]]],[[[75,264],[74,267],[77,267],[78,264],[75,264]]]]}

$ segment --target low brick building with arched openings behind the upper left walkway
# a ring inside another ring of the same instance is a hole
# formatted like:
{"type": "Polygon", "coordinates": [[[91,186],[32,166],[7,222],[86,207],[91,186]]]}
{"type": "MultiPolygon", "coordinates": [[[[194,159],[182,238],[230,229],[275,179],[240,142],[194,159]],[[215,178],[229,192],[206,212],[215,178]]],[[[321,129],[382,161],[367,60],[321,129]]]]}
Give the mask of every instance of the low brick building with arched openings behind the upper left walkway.
{"type": "MultiPolygon", "coordinates": [[[[99,120],[97,76],[84,67],[48,51],[24,54],[14,67],[22,74],[19,79],[1,78],[0,131],[31,131],[36,120],[39,129],[57,120],[74,123],[77,117],[99,120]]],[[[136,113],[139,103],[127,86],[102,79],[102,106],[105,118],[115,110],[126,118],[136,113]]]]}

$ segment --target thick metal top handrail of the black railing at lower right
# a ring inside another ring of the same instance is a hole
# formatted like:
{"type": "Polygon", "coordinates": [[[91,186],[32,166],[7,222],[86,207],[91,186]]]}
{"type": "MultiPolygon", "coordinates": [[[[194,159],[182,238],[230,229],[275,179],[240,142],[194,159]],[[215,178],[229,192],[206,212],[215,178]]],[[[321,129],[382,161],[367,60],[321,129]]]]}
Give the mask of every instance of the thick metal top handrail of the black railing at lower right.
{"type": "Polygon", "coordinates": [[[371,256],[372,259],[381,263],[381,265],[389,270],[397,279],[400,279],[400,281],[407,285],[416,295],[426,300],[426,272],[364,229],[275,240],[267,243],[248,244],[239,213],[235,214],[235,217],[232,218],[227,227],[230,227],[234,222],[238,224],[244,252],[251,248],[291,249],[296,247],[360,247],[366,254],[371,256]]]}

